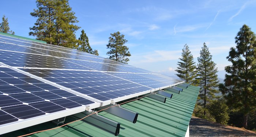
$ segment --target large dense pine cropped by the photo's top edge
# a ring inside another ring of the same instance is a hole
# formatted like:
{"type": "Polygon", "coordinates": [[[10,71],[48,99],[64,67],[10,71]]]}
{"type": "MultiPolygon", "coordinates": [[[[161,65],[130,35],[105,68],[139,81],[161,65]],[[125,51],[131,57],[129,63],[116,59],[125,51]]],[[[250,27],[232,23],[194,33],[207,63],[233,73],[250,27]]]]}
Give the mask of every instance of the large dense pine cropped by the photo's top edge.
{"type": "Polygon", "coordinates": [[[37,9],[31,16],[37,17],[35,26],[29,35],[49,44],[68,48],[77,48],[75,31],[79,29],[75,13],[69,7],[68,0],[37,0],[37,9]]]}

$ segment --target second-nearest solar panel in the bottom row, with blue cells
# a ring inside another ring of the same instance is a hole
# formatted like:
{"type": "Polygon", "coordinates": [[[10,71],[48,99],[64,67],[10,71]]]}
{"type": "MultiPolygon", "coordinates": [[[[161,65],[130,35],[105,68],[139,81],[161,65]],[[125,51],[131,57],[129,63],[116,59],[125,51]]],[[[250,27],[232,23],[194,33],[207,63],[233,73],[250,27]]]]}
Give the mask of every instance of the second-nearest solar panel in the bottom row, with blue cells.
{"type": "Polygon", "coordinates": [[[103,72],[56,69],[20,69],[101,101],[152,89],[103,72]]]}

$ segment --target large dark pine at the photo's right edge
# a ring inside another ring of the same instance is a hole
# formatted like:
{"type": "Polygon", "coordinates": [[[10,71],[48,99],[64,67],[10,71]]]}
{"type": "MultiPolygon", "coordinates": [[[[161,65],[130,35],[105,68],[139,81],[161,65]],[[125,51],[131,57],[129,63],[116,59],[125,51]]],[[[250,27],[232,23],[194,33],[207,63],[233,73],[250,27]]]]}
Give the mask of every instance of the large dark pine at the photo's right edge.
{"type": "Polygon", "coordinates": [[[219,89],[225,94],[229,106],[243,113],[243,126],[247,127],[248,115],[256,109],[256,37],[247,25],[237,33],[236,48],[231,48],[225,67],[225,84],[219,89]]]}

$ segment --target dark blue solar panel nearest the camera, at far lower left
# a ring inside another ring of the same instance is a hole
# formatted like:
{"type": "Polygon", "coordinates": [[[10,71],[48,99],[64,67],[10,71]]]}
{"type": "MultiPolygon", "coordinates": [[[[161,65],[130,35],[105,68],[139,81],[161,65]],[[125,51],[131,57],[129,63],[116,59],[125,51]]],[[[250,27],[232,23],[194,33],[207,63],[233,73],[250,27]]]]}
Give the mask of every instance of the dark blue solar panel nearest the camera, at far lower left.
{"type": "Polygon", "coordinates": [[[0,125],[94,103],[10,68],[0,67],[0,125]]]}

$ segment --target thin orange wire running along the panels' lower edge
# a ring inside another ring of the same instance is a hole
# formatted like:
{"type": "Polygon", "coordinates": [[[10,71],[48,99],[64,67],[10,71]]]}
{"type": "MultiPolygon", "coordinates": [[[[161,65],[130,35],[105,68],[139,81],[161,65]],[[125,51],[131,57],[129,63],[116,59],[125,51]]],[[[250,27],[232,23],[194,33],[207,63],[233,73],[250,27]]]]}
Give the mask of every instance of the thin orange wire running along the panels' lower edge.
{"type": "MultiPolygon", "coordinates": [[[[151,94],[155,94],[155,93],[157,93],[157,92],[154,92],[154,93],[151,93],[151,94]]],[[[128,103],[128,102],[131,102],[131,101],[138,100],[138,99],[140,99],[140,98],[143,98],[143,97],[149,96],[149,95],[151,95],[151,94],[147,94],[147,95],[145,95],[145,96],[142,96],[142,97],[136,98],[136,99],[134,99],[134,100],[129,100],[129,101],[123,102],[123,103],[118,104],[118,105],[123,105],[123,104],[125,104],[125,103],[128,103]]],[[[113,105],[113,106],[109,106],[108,108],[101,109],[101,110],[99,110],[99,111],[97,111],[97,112],[93,112],[93,113],[91,113],[91,114],[89,114],[89,115],[87,115],[87,116],[85,116],[85,117],[83,117],[83,118],[81,118],[81,119],[79,119],[79,120],[71,121],[71,122],[68,122],[68,123],[66,123],[66,124],[64,124],[64,125],[57,126],[57,127],[55,127],[55,128],[45,129],[45,130],[40,130],[40,131],[36,131],[36,132],[33,132],[33,133],[25,134],[25,135],[22,135],[22,136],[18,136],[18,137],[29,136],[29,135],[31,135],[31,134],[35,134],[35,133],[40,133],[40,132],[45,132],[45,131],[49,131],[49,130],[53,130],[53,129],[57,129],[57,128],[61,128],[61,127],[65,126],[65,125],[68,125],[68,124],[71,124],[71,123],[74,123],[74,122],[77,122],[77,121],[81,121],[81,120],[83,120],[84,118],[91,116],[92,114],[96,114],[96,113],[98,113],[98,112],[101,112],[101,111],[103,111],[103,110],[106,110],[106,109],[109,109],[109,108],[112,108],[112,107],[115,107],[115,106],[118,106],[118,105],[116,104],[116,105],[113,105]]]]}

